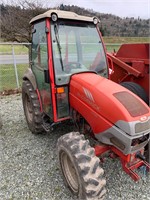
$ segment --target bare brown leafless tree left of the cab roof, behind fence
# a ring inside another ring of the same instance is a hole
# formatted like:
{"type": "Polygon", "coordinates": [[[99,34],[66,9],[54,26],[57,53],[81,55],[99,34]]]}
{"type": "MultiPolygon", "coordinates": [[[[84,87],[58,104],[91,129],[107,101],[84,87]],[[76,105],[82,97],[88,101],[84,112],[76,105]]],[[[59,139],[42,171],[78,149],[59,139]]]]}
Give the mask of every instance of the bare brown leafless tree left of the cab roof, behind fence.
{"type": "Polygon", "coordinates": [[[28,0],[16,5],[0,5],[1,37],[5,41],[31,42],[30,20],[46,11],[40,4],[28,0]]]}

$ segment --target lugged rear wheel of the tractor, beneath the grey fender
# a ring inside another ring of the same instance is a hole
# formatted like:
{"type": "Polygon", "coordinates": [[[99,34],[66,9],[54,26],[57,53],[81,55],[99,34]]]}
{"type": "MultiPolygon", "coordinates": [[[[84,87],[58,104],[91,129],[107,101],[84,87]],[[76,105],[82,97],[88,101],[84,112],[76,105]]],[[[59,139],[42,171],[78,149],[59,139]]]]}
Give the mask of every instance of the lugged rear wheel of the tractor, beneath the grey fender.
{"type": "Polygon", "coordinates": [[[22,103],[30,131],[35,134],[45,132],[38,96],[28,80],[23,81],[22,84],[22,103]]]}

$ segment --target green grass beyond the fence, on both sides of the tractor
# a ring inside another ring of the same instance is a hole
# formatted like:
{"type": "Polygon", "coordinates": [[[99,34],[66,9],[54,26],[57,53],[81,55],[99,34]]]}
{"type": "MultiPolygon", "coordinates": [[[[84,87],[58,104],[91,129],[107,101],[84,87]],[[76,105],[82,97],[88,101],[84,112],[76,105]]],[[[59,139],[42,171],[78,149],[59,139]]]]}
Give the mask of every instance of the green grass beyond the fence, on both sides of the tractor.
{"type": "MultiPolygon", "coordinates": [[[[123,43],[149,43],[148,37],[103,37],[107,51],[117,51],[123,43]],[[117,45],[116,45],[117,44],[117,45]]],[[[23,45],[14,45],[15,54],[28,54],[28,48],[23,45]]],[[[0,54],[12,54],[11,45],[0,45],[0,54]]],[[[27,64],[17,64],[19,85],[22,84],[22,76],[28,68],[27,64]]],[[[13,65],[0,65],[0,91],[17,88],[15,70],[13,65]]]]}

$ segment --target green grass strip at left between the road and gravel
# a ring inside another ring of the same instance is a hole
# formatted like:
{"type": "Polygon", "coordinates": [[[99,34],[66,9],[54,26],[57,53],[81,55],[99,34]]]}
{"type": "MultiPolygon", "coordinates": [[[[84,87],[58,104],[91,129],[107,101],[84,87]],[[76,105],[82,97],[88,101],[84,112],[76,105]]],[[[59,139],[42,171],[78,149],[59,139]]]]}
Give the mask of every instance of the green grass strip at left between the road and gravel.
{"type": "MultiPolygon", "coordinates": [[[[18,64],[17,72],[19,86],[22,85],[22,76],[28,68],[27,64],[18,64]]],[[[0,65],[0,91],[17,88],[15,70],[13,65],[0,65]]]]}

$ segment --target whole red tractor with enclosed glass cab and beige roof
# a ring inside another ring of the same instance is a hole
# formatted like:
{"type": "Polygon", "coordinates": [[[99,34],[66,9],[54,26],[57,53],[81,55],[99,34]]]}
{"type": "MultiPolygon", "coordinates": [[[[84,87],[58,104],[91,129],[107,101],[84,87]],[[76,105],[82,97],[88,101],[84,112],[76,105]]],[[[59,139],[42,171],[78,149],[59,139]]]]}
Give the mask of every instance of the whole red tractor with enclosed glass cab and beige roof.
{"type": "Polygon", "coordinates": [[[99,20],[49,10],[34,17],[31,67],[23,76],[22,100],[29,129],[49,132],[71,120],[78,131],[58,139],[60,168],[79,199],[103,199],[106,181],[100,161],[119,157],[137,181],[145,166],[150,109],[143,100],[109,80],[99,20]],[[91,137],[91,146],[85,137],[91,137]]]}

